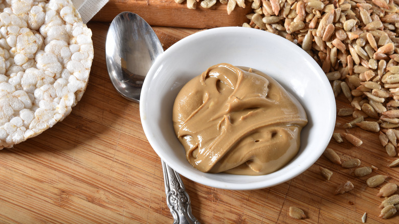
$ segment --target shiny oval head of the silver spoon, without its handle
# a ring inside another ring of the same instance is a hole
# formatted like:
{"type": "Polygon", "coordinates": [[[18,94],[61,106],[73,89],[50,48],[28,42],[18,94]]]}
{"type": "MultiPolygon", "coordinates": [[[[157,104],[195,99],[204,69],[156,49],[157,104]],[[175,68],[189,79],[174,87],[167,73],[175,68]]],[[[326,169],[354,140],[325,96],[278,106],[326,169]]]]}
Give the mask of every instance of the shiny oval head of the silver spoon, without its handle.
{"type": "Polygon", "coordinates": [[[139,15],[122,12],[109,26],[105,41],[107,70],[115,89],[126,99],[139,102],[144,78],[162,53],[157,34],[139,15]]]}

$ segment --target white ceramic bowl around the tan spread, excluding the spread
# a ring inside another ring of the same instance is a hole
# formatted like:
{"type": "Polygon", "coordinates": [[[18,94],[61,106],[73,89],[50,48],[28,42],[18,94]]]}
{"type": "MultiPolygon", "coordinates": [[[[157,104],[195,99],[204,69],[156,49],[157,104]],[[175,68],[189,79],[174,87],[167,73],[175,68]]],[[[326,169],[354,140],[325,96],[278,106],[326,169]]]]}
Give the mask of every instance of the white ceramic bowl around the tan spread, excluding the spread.
{"type": "Polygon", "coordinates": [[[320,66],[294,43],[252,28],[214,28],[176,42],[157,58],[144,81],[140,116],[145,135],[162,160],[181,175],[210,187],[251,190],[299,175],[323,153],[333,134],[336,104],[320,66]],[[186,160],[172,125],[173,102],[183,85],[211,65],[226,62],[270,75],[303,105],[308,124],[297,156],[268,175],[203,173],[186,160]]]}

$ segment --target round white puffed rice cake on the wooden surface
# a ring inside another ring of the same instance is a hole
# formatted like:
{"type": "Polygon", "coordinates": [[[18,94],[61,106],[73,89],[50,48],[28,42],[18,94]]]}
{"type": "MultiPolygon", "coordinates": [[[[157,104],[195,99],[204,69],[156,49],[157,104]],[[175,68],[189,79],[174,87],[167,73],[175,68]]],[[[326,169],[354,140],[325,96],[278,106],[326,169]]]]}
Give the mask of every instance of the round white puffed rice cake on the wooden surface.
{"type": "Polygon", "coordinates": [[[0,149],[39,135],[82,98],[92,31],[70,0],[0,0],[0,149]]]}

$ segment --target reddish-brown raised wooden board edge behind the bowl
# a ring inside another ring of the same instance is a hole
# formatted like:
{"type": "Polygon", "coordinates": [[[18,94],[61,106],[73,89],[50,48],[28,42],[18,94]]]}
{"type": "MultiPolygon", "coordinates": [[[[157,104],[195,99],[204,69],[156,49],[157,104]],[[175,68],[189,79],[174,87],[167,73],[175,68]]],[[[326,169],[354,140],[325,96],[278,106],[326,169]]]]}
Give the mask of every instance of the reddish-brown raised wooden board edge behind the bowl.
{"type": "Polygon", "coordinates": [[[186,2],[177,4],[174,0],[110,0],[92,21],[110,22],[123,11],[137,13],[152,26],[204,29],[241,26],[248,20],[245,15],[252,9],[250,3],[247,3],[245,8],[236,6],[228,15],[226,4],[220,4],[219,1],[209,9],[197,4],[193,10],[187,8],[186,2]]]}

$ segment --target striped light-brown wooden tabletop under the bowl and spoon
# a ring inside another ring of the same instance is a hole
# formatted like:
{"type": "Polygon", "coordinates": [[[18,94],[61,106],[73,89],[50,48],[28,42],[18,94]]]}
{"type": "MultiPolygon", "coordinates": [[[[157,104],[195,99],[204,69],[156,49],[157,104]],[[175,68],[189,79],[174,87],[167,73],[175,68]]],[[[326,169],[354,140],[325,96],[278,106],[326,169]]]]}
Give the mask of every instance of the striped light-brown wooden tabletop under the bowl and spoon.
{"type": "MultiPolygon", "coordinates": [[[[139,105],[116,93],[109,81],[104,43],[109,23],[90,22],[95,56],[85,94],[71,115],[41,135],[0,151],[0,223],[172,223],[166,205],[162,167],[150,147],[139,116],[139,105]]],[[[198,29],[154,27],[165,49],[198,29]]],[[[340,96],[337,108],[349,107],[340,96]]],[[[350,117],[338,117],[345,123],[350,117]]],[[[344,131],[337,128],[336,131],[344,131]]],[[[361,166],[379,169],[354,177],[353,169],[324,156],[304,173],[275,187],[234,191],[211,188],[183,177],[192,213],[202,223],[399,223],[399,215],[383,220],[376,197],[381,186],[365,180],[386,174],[399,184],[399,167],[388,168],[376,133],[353,128],[363,140],[354,147],[331,140],[342,161],[359,158],[361,166]],[[329,181],[319,166],[334,172],[329,181]],[[354,189],[333,195],[351,181],[354,189]],[[307,218],[291,218],[289,208],[307,218]]],[[[323,135],[323,133],[320,133],[323,135]]],[[[317,136],[315,136],[317,138],[317,136]]],[[[397,193],[397,192],[396,192],[397,193]]]]}

